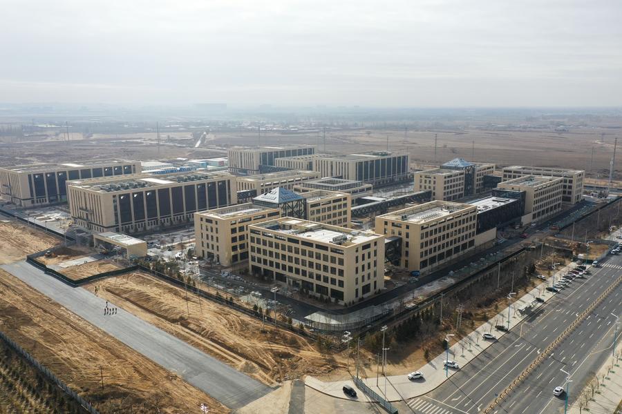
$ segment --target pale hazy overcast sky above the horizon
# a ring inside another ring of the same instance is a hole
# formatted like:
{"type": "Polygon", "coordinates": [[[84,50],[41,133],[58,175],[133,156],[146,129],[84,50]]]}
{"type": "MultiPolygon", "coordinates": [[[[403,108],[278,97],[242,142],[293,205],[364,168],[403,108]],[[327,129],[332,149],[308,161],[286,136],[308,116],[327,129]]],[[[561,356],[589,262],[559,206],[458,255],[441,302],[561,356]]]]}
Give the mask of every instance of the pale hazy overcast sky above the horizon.
{"type": "Polygon", "coordinates": [[[0,101],[621,106],[621,0],[1,0],[0,101]]]}

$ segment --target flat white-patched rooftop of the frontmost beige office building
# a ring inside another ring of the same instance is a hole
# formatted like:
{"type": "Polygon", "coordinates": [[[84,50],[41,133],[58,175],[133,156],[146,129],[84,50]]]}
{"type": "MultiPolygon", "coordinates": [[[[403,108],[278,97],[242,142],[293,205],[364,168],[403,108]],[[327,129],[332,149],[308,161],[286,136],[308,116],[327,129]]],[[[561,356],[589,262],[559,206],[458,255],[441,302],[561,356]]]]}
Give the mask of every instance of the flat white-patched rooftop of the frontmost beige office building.
{"type": "Polygon", "coordinates": [[[284,235],[295,235],[296,237],[313,240],[314,242],[343,246],[366,243],[381,237],[381,235],[369,231],[351,230],[349,228],[330,226],[315,221],[293,219],[292,217],[264,221],[254,226],[277,231],[284,235]]]}

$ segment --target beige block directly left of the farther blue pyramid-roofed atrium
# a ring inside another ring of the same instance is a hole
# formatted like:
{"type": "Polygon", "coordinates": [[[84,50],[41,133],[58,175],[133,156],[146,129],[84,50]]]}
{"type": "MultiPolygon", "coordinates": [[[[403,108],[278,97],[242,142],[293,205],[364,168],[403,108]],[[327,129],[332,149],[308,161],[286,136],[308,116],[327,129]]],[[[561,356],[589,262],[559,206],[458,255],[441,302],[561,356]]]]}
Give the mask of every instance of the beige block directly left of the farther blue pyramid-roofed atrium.
{"type": "Polygon", "coordinates": [[[464,171],[433,168],[415,171],[415,192],[432,190],[432,199],[454,201],[464,197],[464,171]]]}

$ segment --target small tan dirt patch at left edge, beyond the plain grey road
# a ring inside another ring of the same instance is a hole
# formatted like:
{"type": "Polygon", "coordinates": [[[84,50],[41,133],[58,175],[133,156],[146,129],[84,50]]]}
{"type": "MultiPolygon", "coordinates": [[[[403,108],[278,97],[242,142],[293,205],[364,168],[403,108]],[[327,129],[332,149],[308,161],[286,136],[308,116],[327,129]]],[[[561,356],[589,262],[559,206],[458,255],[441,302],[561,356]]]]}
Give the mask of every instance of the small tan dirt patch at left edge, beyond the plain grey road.
{"type": "Polygon", "coordinates": [[[0,264],[17,262],[26,255],[46,250],[60,239],[15,220],[0,221],[0,264]]]}

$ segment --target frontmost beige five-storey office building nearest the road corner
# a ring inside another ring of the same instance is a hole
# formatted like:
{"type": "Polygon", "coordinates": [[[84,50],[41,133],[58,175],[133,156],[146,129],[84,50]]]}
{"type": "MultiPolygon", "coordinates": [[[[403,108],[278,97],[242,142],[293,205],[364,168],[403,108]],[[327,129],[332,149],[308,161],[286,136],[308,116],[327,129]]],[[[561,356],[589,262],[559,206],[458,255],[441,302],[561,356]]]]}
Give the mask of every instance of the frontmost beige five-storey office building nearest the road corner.
{"type": "Polygon", "coordinates": [[[292,217],[249,227],[249,270],[339,303],[384,287],[384,237],[292,217]]]}

